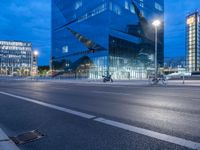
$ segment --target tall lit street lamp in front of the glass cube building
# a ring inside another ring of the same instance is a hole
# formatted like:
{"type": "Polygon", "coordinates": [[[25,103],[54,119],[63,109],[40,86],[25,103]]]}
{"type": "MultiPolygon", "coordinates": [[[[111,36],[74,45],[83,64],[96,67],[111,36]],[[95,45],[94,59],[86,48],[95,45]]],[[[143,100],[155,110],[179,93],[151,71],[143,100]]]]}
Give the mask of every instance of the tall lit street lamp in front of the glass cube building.
{"type": "Polygon", "coordinates": [[[158,74],[158,27],[161,25],[160,20],[154,20],[152,25],[155,27],[155,78],[157,78],[158,74]]]}

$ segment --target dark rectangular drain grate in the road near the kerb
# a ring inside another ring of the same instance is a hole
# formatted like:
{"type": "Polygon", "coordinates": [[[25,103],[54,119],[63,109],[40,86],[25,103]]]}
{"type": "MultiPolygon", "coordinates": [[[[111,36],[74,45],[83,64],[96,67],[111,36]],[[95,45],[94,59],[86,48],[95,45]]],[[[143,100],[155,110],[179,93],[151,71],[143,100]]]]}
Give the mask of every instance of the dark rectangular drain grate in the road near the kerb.
{"type": "Polygon", "coordinates": [[[10,137],[10,139],[17,145],[25,144],[28,142],[33,142],[35,140],[39,140],[43,138],[45,135],[39,132],[38,130],[29,131],[26,133],[22,133],[15,137],[10,137]]]}

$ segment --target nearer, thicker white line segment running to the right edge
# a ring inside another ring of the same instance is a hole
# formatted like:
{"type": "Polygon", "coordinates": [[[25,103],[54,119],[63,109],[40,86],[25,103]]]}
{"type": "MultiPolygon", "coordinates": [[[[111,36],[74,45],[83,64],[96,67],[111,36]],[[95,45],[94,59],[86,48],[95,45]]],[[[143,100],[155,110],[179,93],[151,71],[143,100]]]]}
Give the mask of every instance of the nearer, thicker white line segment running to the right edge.
{"type": "Polygon", "coordinates": [[[158,140],[162,140],[162,141],[165,141],[165,142],[177,144],[177,145],[184,146],[184,147],[191,148],[191,149],[200,150],[200,143],[193,142],[193,141],[190,141],[190,140],[185,140],[185,139],[182,139],[182,138],[158,133],[158,132],[155,132],[155,131],[151,131],[151,130],[147,130],[147,129],[143,129],[143,128],[138,128],[138,127],[135,127],[135,126],[127,125],[127,124],[124,124],[124,123],[120,123],[120,122],[116,122],[116,121],[112,121],[112,120],[108,120],[108,119],[104,119],[104,118],[96,118],[94,120],[97,121],[97,122],[101,122],[103,124],[106,124],[106,125],[114,126],[114,127],[117,127],[117,128],[121,128],[121,129],[124,129],[124,130],[135,132],[135,133],[138,133],[138,134],[142,134],[142,135],[152,137],[152,138],[155,138],[155,139],[158,139],[158,140]]]}

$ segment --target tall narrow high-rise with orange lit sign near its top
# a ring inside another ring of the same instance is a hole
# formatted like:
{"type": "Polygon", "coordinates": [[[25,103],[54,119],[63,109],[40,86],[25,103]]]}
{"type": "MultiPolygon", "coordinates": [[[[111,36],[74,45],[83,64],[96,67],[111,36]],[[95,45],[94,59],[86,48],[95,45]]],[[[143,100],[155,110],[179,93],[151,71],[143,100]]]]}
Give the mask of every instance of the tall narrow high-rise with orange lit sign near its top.
{"type": "Polygon", "coordinates": [[[200,71],[200,13],[188,15],[186,23],[187,68],[190,72],[200,71]]]}

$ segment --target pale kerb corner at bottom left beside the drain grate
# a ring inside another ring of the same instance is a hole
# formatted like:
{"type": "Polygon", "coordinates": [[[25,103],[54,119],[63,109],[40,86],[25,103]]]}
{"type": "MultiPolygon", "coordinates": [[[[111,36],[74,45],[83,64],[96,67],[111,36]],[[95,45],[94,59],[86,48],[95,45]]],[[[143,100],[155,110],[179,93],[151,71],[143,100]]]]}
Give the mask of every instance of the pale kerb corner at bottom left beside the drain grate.
{"type": "Polygon", "coordinates": [[[0,128],[0,150],[19,150],[12,140],[0,128]]]}

